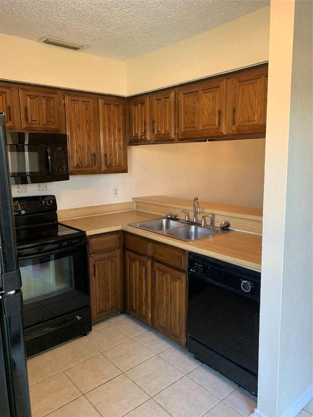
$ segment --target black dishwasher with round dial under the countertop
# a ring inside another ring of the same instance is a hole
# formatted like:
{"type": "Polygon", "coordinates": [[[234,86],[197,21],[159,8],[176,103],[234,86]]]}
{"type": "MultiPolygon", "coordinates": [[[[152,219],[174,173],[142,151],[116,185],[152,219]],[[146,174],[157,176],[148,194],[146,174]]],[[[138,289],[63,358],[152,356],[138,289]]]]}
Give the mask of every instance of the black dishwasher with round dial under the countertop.
{"type": "Polygon", "coordinates": [[[188,351],[254,395],[260,284],[258,271],[189,254],[188,351]]]}

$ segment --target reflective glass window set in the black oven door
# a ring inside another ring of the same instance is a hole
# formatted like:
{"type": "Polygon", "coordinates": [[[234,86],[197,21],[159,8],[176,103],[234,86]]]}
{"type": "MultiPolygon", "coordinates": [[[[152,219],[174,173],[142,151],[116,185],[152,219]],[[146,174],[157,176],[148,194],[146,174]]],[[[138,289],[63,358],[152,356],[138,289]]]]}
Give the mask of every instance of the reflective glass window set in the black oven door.
{"type": "Polygon", "coordinates": [[[48,298],[74,288],[73,257],[54,255],[20,262],[24,302],[48,298]]]}

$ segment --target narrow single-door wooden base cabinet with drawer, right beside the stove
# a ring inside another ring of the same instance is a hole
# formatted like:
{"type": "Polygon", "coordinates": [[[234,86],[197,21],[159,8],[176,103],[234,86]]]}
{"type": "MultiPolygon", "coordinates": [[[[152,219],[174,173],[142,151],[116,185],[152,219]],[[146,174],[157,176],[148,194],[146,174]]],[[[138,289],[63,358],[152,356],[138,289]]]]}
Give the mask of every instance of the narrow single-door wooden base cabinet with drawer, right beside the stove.
{"type": "Polygon", "coordinates": [[[92,321],[118,313],[123,306],[121,232],[89,238],[92,321]]]}

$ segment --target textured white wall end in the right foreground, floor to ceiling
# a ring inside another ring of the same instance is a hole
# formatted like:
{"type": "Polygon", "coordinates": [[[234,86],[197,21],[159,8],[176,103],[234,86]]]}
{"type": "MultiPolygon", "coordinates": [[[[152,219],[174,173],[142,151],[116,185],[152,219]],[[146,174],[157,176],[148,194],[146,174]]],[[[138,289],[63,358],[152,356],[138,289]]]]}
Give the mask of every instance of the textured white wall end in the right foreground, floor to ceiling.
{"type": "Polygon", "coordinates": [[[312,21],[311,1],[271,0],[256,416],[312,399],[312,21]]]}

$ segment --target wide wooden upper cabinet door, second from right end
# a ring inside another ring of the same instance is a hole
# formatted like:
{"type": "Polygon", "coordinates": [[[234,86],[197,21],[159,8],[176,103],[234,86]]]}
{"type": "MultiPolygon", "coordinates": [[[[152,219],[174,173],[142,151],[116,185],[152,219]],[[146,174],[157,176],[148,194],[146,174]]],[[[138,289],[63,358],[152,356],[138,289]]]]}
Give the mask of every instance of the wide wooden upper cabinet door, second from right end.
{"type": "Polygon", "coordinates": [[[179,90],[179,139],[224,135],[226,79],[204,81],[179,90]]]}

